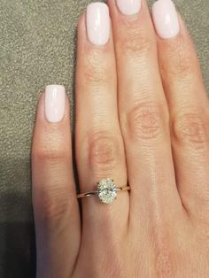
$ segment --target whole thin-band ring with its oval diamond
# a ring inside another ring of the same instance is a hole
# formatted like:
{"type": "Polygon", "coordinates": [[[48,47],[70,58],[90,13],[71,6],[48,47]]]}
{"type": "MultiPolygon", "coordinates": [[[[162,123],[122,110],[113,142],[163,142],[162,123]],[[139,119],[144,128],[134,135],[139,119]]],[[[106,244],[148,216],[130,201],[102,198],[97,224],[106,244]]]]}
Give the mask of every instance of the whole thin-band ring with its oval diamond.
{"type": "Polygon", "coordinates": [[[110,178],[103,179],[97,182],[97,189],[85,193],[80,193],[77,198],[97,196],[99,200],[104,204],[111,204],[117,197],[119,191],[130,190],[129,186],[117,187],[114,181],[110,178]]]}

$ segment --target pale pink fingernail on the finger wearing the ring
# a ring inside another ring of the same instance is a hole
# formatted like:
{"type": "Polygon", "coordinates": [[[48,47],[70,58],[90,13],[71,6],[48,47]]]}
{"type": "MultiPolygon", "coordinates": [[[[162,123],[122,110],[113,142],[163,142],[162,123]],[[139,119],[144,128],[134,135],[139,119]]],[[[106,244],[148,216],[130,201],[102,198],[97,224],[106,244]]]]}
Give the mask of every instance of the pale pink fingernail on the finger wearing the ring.
{"type": "Polygon", "coordinates": [[[109,8],[104,3],[92,3],[87,7],[87,33],[89,41],[104,45],[110,37],[109,8]]]}

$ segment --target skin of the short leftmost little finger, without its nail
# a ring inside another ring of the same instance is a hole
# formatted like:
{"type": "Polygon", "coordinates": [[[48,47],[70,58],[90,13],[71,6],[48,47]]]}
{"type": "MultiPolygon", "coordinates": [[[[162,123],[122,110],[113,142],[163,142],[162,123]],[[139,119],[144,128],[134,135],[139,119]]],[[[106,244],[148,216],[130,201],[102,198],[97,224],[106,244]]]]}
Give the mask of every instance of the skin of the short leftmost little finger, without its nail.
{"type": "Polygon", "coordinates": [[[72,166],[69,104],[50,123],[40,97],[32,146],[37,277],[69,277],[80,246],[80,215],[72,166]]]}

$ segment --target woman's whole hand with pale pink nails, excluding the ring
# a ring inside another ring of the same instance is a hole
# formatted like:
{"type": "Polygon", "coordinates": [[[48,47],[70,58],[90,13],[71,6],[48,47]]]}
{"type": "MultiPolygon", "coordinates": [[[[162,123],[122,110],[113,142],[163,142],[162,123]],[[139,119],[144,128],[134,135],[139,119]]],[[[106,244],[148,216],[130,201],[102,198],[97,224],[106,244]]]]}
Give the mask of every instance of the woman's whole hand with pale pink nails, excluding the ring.
{"type": "Polygon", "coordinates": [[[32,150],[37,277],[209,276],[209,105],[170,0],[90,4],[78,26],[75,158],[62,86],[40,98],[32,150]],[[154,27],[155,26],[155,27],[154,27]]]}

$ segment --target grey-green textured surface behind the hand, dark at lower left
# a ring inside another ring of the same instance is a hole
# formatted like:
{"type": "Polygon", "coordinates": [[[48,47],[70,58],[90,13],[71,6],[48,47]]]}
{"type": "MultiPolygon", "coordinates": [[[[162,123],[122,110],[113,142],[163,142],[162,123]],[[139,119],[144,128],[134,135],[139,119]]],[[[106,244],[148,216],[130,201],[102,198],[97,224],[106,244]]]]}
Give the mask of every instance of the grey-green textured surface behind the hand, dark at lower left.
{"type": "MultiPolygon", "coordinates": [[[[0,0],[0,277],[32,277],[30,148],[46,84],[66,85],[74,119],[75,30],[90,1],[0,0]]],[[[150,4],[153,1],[150,1],[150,4]]],[[[209,2],[175,0],[209,88],[209,2]]]]}

